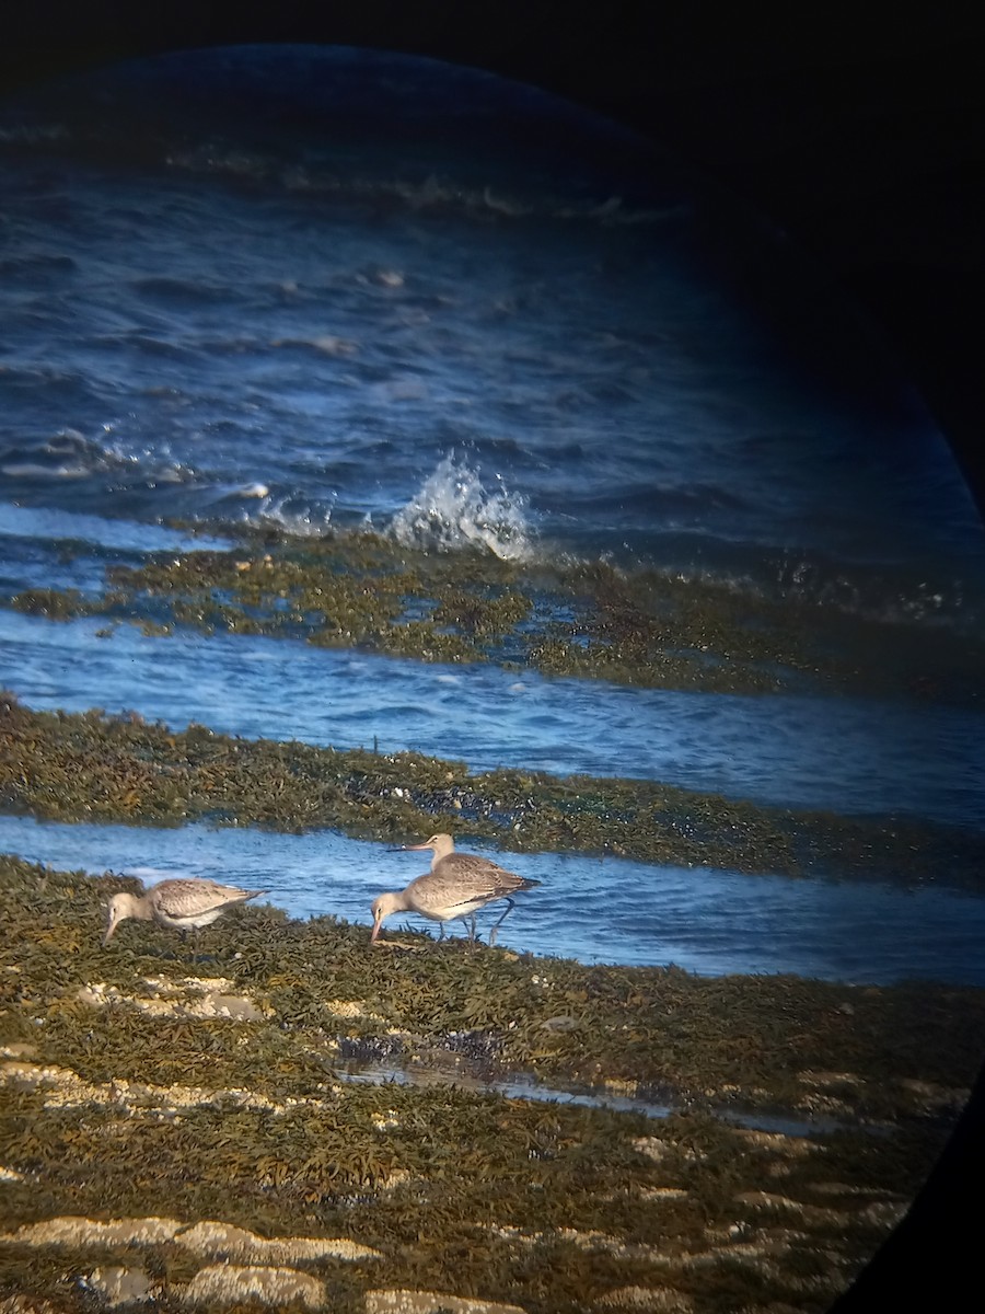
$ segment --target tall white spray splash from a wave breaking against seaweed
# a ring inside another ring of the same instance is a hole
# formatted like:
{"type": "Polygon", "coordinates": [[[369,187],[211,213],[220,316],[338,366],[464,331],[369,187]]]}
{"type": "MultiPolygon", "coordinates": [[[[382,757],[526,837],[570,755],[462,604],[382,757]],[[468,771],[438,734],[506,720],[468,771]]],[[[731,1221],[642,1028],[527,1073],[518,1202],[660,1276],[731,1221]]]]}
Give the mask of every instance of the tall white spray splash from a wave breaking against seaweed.
{"type": "Polygon", "coordinates": [[[525,499],[511,494],[499,476],[496,481],[489,491],[478,472],[450,452],[397,512],[390,532],[406,547],[453,551],[481,545],[504,561],[527,560],[533,548],[525,499]]]}

